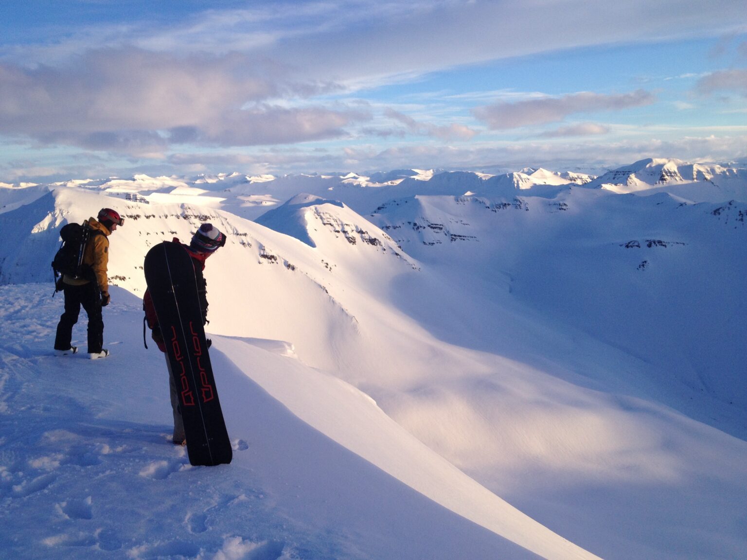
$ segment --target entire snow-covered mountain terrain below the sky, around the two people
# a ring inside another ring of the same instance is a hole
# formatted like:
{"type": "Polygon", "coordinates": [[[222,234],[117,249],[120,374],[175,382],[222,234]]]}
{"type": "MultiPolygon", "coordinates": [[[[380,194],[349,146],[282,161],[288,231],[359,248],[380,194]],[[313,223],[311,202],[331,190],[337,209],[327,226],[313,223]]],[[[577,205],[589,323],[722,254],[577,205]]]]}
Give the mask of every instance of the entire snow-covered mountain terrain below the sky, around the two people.
{"type": "Polygon", "coordinates": [[[740,558],[747,180],[689,166],[633,164],[628,190],[545,169],[2,186],[0,544],[14,558],[740,558]],[[657,166],[679,178],[653,181],[657,166]],[[126,220],[112,355],[63,361],[49,262],[59,228],[102,206],[126,220]],[[205,270],[235,447],[214,469],[166,444],[139,299],[147,249],[204,221],[228,234],[205,270]]]}

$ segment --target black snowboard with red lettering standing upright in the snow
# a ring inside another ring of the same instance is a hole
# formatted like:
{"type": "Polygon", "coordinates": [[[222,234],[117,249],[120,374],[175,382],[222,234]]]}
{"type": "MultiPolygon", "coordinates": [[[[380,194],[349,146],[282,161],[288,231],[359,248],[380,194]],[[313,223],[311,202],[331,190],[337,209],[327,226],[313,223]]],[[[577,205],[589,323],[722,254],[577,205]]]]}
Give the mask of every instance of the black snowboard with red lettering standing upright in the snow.
{"type": "Polygon", "coordinates": [[[179,391],[189,462],[230,463],[231,441],[202,328],[192,258],[181,243],[164,241],[149,250],[143,269],[179,391]]]}

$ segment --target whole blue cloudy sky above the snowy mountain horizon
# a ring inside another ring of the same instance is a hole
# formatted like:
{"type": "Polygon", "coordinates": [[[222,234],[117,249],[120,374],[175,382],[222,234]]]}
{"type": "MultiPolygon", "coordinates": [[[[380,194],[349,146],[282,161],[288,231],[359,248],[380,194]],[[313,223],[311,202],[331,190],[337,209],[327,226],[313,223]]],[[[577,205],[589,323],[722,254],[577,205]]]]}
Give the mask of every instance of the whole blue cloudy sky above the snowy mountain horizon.
{"type": "Polygon", "coordinates": [[[0,181],[747,161],[743,0],[0,2],[0,181]]]}

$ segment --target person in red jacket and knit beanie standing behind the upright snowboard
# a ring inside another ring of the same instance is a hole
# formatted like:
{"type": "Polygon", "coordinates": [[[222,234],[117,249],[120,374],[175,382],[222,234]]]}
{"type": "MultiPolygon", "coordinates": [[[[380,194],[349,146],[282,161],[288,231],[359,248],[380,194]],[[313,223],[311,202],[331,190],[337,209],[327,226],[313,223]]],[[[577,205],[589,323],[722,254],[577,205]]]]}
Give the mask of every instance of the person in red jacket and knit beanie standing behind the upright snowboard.
{"type": "MultiPolygon", "coordinates": [[[[205,281],[202,271],[205,270],[205,261],[207,258],[216,252],[219,247],[226,244],[226,235],[221,233],[214,225],[204,223],[193,234],[189,245],[179,241],[178,237],[173,238],[173,243],[181,243],[182,247],[184,247],[185,251],[192,258],[197,283],[197,295],[199,296],[199,307],[202,311],[202,325],[204,326],[208,323],[208,283],[205,281]]],[[[155,314],[155,307],[153,306],[153,299],[150,296],[149,290],[146,290],[145,294],[143,294],[143,311],[145,311],[146,323],[151,329],[152,339],[158,345],[158,349],[165,354],[166,343],[164,342],[164,335],[161,333],[161,327],[158,325],[158,317],[155,314]]],[[[210,344],[211,341],[208,339],[208,347],[210,344]]],[[[169,364],[168,359],[167,364],[169,364]]],[[[169,390],[171,393],[171,410],[174,417],[172,441],[176,445],[185,445],[185,427],[182,422],[182,412],[179,410],[179,393],[176,391],[176,385],[174,384],[171,372],[169,372],[169,390]]]]}

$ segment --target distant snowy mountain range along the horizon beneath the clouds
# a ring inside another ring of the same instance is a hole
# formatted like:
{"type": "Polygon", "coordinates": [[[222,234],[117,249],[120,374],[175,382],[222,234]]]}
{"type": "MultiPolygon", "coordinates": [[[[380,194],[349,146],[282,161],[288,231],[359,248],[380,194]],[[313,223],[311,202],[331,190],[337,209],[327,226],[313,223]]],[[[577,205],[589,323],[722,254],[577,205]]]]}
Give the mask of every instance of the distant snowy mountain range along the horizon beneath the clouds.
{"type": "Polygon", "coordinates": [[[573,187],[641,195],[667,192],[688,202],[747,199],[747,168],[690,164],[675,159],[645,159],[602,175],[525,168],[491,175],[475,171],[395,169],[301,175],[245,175],[238,172],[190,177],[77,178],[50,184],[0,182],[1,211],[8,211],[58,187],[78,187],[117,196],[140,196],[149,202],[163,196],[193,197],[196,204],[224,208],[250,220],[299,193],[344,202],[360,213],[406,196],[556,196],[573,187]]]}

